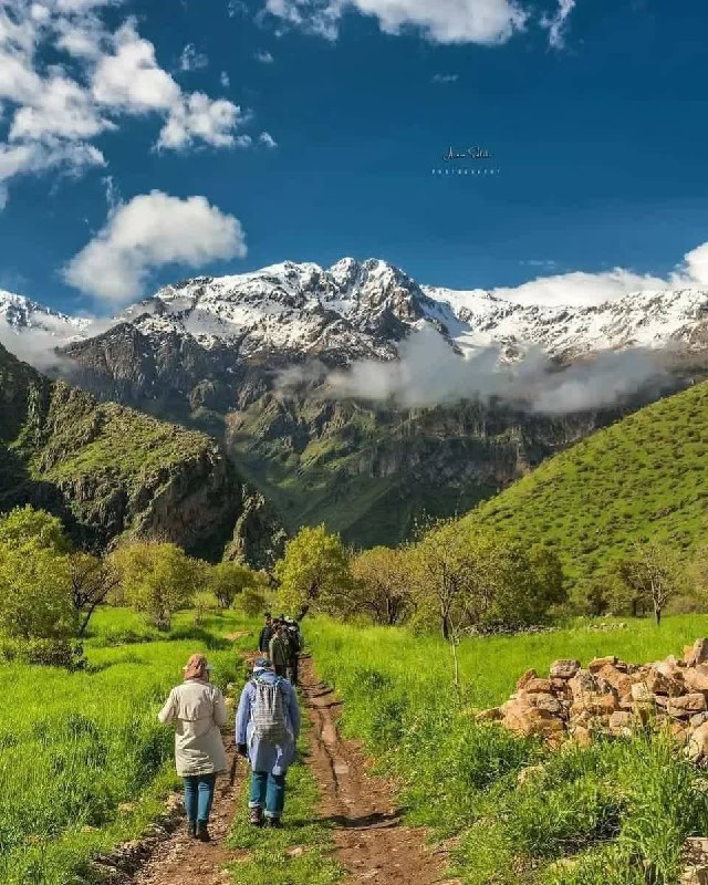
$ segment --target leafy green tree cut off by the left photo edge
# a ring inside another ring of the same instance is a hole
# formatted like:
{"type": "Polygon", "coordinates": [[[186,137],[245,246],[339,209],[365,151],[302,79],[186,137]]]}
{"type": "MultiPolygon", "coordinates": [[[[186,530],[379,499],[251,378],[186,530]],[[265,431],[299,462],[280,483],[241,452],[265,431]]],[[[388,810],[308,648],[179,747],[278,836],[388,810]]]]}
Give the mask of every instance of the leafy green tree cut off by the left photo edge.
{"type": "Polygon", "coordinates": [[[69,639],[76,618],[67,555],[37,539],[0,545],[0,632],[19,639],[69,639]]]}

